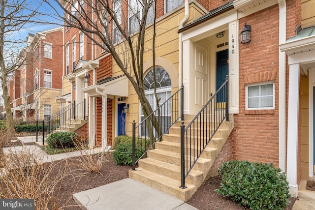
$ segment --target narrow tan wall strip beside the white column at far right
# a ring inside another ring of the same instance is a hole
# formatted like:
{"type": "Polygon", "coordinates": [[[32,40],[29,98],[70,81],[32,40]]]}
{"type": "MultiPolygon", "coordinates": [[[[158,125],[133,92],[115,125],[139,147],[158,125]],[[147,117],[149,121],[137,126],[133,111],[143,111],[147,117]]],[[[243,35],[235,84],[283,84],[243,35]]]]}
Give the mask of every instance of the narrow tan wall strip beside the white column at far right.
{"type": "Polygon", "coordinates": [[[309,179],[309,77],[301,76],[302,180],[309,179]]]}

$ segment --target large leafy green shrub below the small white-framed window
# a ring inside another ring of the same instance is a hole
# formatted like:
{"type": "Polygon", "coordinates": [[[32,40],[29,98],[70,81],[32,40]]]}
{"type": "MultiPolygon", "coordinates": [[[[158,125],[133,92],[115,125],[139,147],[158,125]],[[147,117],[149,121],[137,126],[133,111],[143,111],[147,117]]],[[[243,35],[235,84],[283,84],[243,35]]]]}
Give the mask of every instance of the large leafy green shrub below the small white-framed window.
{"type": "Polygon", "coordinates": [[[221,186],[215,191],[252,210],[283,210],[289,203],[284,173],[273,165],[233,160],[219,169],[221,186]]]}

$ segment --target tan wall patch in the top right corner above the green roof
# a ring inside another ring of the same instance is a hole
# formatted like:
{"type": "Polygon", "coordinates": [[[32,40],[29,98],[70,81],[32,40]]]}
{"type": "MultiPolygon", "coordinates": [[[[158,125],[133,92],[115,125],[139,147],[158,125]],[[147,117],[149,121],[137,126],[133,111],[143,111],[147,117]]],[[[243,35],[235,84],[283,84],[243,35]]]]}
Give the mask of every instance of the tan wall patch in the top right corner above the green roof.
{"type": "Polygon", "coordinates": [[[302,28],[315,25],[315,0],[302,0],[302,28]]]}

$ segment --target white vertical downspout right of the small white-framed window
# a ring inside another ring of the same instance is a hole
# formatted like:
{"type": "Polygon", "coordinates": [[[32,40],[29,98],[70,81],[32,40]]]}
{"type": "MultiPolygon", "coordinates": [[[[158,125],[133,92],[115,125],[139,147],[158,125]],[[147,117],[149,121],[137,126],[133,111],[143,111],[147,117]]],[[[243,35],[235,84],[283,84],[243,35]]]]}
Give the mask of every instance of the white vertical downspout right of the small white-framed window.
{"type": "MultiPolygon", "coordinates": [[[[279,4],[279,44],[286,41],[286,3],[279,4]]],[[[285,172],[286,166],[286,55],[279,47],[279,168],[285,172]]]]}

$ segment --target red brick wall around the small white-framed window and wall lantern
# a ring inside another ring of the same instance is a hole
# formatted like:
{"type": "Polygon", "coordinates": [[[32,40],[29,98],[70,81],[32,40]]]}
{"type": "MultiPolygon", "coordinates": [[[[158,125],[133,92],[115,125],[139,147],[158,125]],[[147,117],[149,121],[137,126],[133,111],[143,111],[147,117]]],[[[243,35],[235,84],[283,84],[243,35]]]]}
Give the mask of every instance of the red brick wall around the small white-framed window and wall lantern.
{"type": "Polygon", "coordinates": [[[231,135],[233,159],[272,162],[278,167],[279,7],[276,4],[240,19],[239,32],[245,22],[252,26],[252,41],[240,44],[239,49],[240,112],[234,117],[231,135]],[[246,85],[263,81],[275,82],[275,110],[246,111],[246,85]]]}

